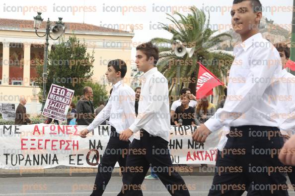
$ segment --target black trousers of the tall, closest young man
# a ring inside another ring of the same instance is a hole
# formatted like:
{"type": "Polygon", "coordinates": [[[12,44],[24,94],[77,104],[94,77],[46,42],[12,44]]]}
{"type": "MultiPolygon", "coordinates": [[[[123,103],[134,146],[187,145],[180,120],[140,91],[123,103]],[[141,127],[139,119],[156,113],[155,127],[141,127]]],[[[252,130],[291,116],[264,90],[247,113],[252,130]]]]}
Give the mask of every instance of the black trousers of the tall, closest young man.
{"type": "Polygon", "coordinates": [[[227,142],[218,154],[209,196],[288,196],[278,159],[283,137],[276,127],[231,127],[227,142]]]}

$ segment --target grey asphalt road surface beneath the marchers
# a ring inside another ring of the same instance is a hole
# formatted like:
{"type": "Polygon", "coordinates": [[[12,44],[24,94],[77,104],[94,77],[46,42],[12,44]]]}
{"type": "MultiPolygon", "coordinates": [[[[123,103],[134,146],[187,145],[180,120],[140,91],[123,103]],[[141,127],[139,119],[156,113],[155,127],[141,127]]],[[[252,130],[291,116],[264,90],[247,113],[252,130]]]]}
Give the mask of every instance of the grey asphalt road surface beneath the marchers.
{"type": "MultiPolygon", "coordinates": [[[[0,178],[0,196],[89,196],[94,176],[89,177],[27,177],[0,178]]],[[[191,196],[207,196],[213,176],[183,176],[191,196]]],[[[103,196],[116,196],[122,178],[113,176],[103,196]]],[[[144,196],[170,196],[160,180],[144,180],[144,196]]],[[[245,192],[242,196],[246,196],[245,192]]],[[[289,191],[295,196],[294,191],[289,191]]]]}

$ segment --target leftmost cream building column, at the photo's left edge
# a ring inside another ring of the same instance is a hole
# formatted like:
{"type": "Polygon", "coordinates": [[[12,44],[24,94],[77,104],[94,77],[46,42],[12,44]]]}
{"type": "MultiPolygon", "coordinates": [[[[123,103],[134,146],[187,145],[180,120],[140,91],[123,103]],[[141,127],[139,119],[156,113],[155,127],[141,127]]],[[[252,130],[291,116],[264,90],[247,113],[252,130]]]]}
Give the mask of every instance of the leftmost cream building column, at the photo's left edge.
{"type": "Polygon", "coordinates": [[[9,42],[3,42],[2,85],[9,85],[9,42]]]}

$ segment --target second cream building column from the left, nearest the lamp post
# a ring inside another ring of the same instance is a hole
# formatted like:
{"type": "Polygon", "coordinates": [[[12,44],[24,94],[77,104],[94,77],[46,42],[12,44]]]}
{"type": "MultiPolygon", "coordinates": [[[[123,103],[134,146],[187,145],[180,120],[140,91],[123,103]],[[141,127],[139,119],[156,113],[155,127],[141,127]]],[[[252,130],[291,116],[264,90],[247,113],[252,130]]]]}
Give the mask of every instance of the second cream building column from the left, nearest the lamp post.
{"type": "Polygon", "coordinates": [[[31,44],[24,44],[23,52],[23,85],[30,86],[31,44]]]}

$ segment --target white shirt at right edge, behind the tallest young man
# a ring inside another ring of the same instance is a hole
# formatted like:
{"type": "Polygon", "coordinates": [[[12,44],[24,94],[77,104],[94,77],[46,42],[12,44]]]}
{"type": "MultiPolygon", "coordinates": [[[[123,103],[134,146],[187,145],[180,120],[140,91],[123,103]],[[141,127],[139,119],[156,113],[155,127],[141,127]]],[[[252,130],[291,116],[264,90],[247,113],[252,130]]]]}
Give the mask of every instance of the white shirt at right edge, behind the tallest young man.
{"type": "Polygon", "coordinates": [[[280,72],[280,77],[275,85],[278,85],[278,114],[274,118],[279,119],[282,134],[286,131],[295,131],[295,76],[286,69],[280,72]],[[286,93],[287,92],[287,93],[286,93]]]}

